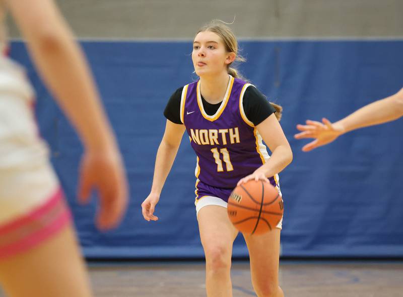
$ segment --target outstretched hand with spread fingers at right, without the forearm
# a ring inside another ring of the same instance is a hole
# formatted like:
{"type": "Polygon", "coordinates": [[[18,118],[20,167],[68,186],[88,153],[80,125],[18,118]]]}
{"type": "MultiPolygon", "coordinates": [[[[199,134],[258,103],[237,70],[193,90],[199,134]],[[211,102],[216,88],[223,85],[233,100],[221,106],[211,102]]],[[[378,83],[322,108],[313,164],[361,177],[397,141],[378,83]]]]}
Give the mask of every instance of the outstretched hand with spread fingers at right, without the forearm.
{"type": "Polygon", "coordinates": [[[297,125],[297,129],[302,132],[294,135],[296,139],[315,138],[314,141],[302,148],[304,152],[328,144],[343,134],[342,127],[330,123],[330,121],[325,118],[322,119],[322,123],[307,120],[306,125],[297,125]]]}

